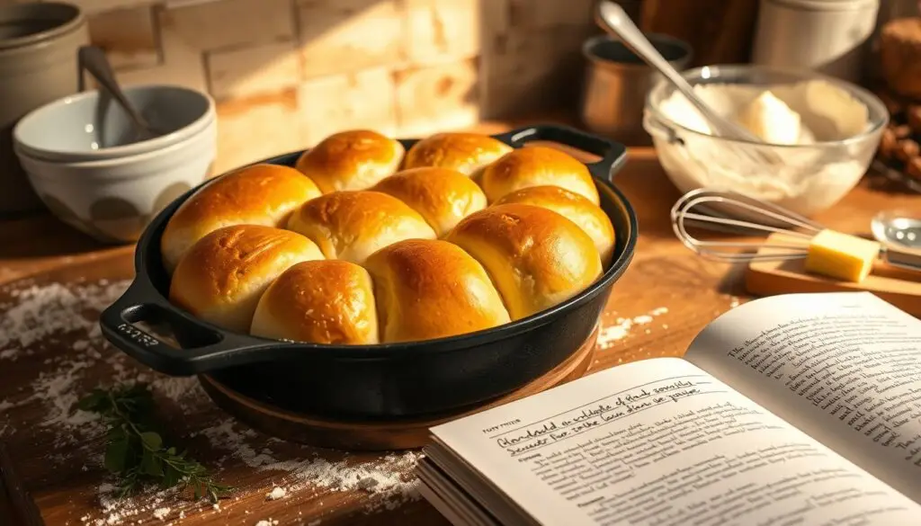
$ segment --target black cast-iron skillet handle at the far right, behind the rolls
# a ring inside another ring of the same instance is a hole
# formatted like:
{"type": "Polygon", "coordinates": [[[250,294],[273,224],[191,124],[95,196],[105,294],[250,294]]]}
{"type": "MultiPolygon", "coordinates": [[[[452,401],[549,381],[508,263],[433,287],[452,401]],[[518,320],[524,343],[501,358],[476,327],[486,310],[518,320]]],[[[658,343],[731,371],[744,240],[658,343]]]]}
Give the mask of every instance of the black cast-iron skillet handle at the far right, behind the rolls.
{"type": "Polygon", "coordinates": [[[627,157],[626,146],[561,124],[538,124],[493,136],[516,148],[531,141],[553,141],[599,156],[601,160],[586,163],[586,166],[592,177],[604,181],[612,180],[614,174],[624,167],[627,157]]]}

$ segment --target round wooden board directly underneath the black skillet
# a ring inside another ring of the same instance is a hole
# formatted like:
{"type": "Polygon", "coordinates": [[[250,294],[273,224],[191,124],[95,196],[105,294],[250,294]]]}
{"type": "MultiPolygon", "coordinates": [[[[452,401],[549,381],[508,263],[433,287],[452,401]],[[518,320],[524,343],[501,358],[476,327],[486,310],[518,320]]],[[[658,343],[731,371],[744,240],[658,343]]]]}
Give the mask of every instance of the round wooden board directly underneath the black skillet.
{"type": "Polygon", "coordinates": [[[227,413],[274,437],[337,450],[409,450],[426,444],[429,427],[513,402],[581,377],[591,365],[598,333],[596,327],[571,357],[517,391],[457,413],[414,420],[356,422],[322,419],[253,400],[208,375],[202,375],[199,381],[204,391],[227,413]]]}

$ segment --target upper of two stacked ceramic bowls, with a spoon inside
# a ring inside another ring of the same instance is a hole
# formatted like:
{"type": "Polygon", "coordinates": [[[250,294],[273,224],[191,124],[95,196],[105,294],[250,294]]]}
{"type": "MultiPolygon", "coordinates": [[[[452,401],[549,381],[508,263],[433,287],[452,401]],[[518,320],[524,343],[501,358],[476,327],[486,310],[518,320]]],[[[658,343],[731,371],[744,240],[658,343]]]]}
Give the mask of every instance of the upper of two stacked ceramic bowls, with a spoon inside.
{"type": "Polygon", "coordinates": [[[13,130],[17,152],[64,162],[122,158],[181,143],[215,122],[214,100],[193,89],[136,86],[124,92],[134,108],[166,133],[134,142],[134,128],[118,104],[99,91],[86,91],[23,117],[13,130]]]}

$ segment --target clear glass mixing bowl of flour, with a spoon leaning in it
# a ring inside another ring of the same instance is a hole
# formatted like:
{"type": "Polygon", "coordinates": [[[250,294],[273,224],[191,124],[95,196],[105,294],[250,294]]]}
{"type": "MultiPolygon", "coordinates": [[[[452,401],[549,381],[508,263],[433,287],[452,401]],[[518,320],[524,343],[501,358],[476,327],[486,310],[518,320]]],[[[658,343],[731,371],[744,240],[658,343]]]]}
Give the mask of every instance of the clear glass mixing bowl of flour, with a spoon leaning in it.
{"type": "Polygon", "coordinates": [[[744,105],[740,100],[753,99],[752,93],[757,90],[747,87],[774,91],[779,86],[778,92],[796,94],[792,97],[795,104],[789,100],[787,103],[802,115],[804,123],[815,127],[813,142],[795,145],[752,143],[707,134],[705,124],[703,127],[699,124],[703,122],[699,114],[675,111],[678,98],[684,106],[690,102],[662,79],[647,95],[643,126],[652,136],[663,169],[682,193],[698,188],[744,193],[812,216],[837,203],[857,185],[889,122],[889,113],[880,99],[866,89],[829,76],[752,65],[710,65],[685,71],[682,76],[692,86],[730,85],[718,89],[734,89],[731,93],[737,97],[714,99],[716,110],[723,116],[731,116],[739,109],[739,104],[744,105]],[[807,96],[802,95],[799,88],[791,88],[803,86],[799,83],[805,81],[824,81],[827,84],[818,82],[809,86],[831,85],[833,89],[807,91],[804,88],[803,93],[810,94],[807,96]],[[741,87],[733,88],[732,85],[741,87]],[[819,93],[822,96],[817,95],[819,93]],[[843,128],[837,121],[841,116],[833,114],[837,108],[834,104],[849,110],[863,105],[866,112],[858,112],[859,117],[845,116],[845,120],[850,119],[850,126],[843,128]],[[859,124],[856,124],[857,118],[861,119],[859,124]],[[736,148],[749,151],[744,156],[731,155],[738,154],[736,148]],[[756,157],[749,155],[752,153],[782,162],[771,165],[740,163],[740,158],[756,157]]]}

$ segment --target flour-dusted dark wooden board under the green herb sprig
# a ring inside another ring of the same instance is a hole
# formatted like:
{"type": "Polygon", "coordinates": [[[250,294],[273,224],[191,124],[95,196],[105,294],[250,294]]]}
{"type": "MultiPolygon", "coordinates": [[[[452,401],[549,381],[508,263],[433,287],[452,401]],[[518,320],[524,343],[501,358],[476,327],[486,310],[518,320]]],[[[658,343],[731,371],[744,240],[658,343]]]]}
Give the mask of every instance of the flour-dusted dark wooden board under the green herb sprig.
{"type": "Polygon", "coordinates": [[[104,343],[99,310],[131,275],[122,254],[0,289],[0,470],[26,524],[445,523],[407,474],[415,452],[353,455],[260,435],[218,410],[197,380],[154,374],[104,343]],[[237,486],[231,497],[217,508],[170,492],[111,497],[102,427],[71,405],[125,380],[151,382],[170,439],[237,486]]]}

